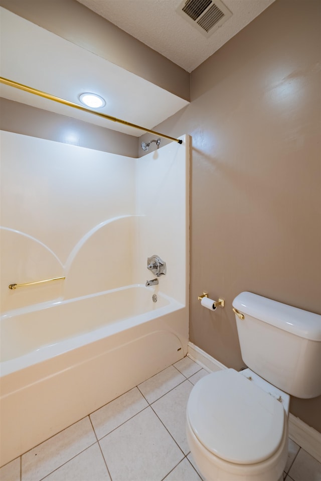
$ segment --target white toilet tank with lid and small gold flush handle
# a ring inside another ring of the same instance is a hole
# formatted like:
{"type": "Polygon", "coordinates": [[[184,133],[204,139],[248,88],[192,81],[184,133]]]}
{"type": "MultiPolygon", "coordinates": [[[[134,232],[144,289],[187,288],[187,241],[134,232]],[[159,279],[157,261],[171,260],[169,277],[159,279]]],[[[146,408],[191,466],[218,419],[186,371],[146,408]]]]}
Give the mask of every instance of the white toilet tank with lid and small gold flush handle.
{"type": "Polygon", "coordinates": [[[233,301],[245,364],[282,391],[321,394],[321,316],[242,292],[233,301]]]}

